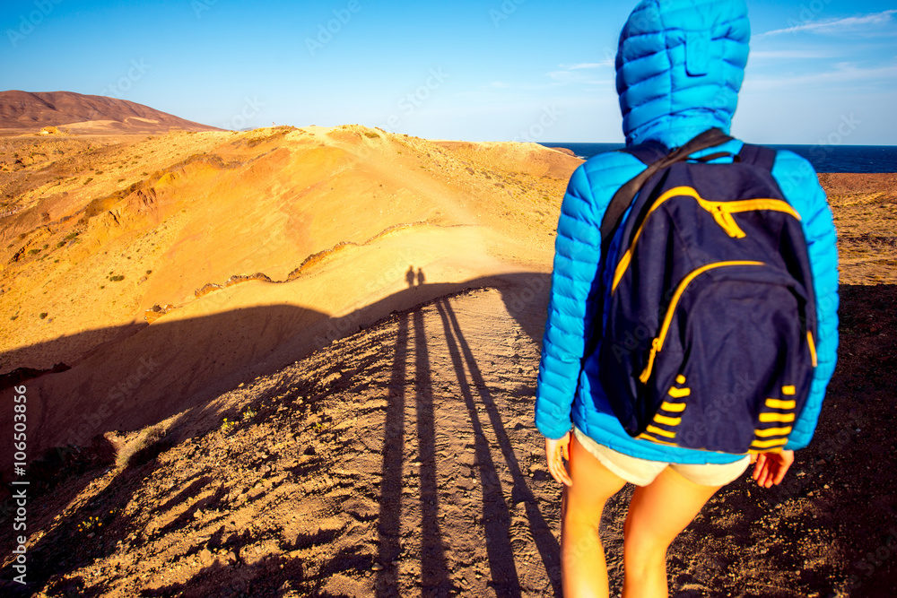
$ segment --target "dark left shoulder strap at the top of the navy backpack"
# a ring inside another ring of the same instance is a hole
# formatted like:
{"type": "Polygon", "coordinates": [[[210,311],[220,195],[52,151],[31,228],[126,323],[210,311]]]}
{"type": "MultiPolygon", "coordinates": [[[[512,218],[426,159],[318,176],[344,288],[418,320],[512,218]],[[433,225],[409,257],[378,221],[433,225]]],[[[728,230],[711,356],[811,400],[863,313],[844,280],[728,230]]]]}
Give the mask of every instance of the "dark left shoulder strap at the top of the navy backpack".
{"type": "Polygon", "coordinates": [[[694,152],[713,147],[714,145],[719,145],[720,143],[726,143],[731,139],[732,137],[723,133],[720,129],[712,128],[699,134],[690,142],[685,143],[682,147],[677,148],[666,155],[661,155],[659,158],[658,154],[662,154],[663,152],[658,149],[658,144],[645,143],[640,146],[633,146],[623,150],[624,152],[630,152],[645,163],[648,163],[646,160],[651,161],[647,169],[642,170],[638,176],[631,178],[628,182],[623,184],[623,186],[617,189],[610,204],[607,205],[605,216],[601,220],[601,255],[607,255],[607,248],[610,247],[611,237],[613,237],[614,230],[616,230],[617,226],[620,224],[620,220],[623,218],[623,213],[629,208],[629,204],[632,203],[632,198],[639,193],[639,189],[649,178],[653,177],[659,170],[665,169],[670,164],[685,160],[694,152]]]}

